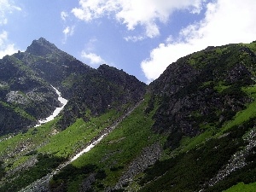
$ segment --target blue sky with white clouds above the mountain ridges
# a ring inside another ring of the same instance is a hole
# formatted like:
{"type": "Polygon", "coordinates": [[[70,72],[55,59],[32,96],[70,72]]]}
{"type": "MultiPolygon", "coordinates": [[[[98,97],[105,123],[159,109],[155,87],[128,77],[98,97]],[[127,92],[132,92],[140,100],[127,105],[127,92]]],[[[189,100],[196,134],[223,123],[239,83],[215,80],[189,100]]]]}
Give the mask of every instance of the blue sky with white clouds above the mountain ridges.
{"type": "Polygon", "coordinates": [[[207,46],[256,40],[256,0],[0,0],[0,58],[46,38],[149,84],[207,46]]]}

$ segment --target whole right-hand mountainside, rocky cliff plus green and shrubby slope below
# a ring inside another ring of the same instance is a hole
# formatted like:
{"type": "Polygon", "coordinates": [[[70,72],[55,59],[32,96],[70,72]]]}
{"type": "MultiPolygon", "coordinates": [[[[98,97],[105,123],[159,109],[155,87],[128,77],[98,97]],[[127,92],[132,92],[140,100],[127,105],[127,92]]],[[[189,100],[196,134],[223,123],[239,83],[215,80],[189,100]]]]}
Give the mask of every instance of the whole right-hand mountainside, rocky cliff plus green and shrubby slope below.
{"type": "Polygon", "coordinates": [[[208,47],[149,85],[151,102],[159,103],[153,129],[168,135],[169,157],[143,172],[139,191],[222,191],[237,183],[252,191],[255,53],[256,42],[208,47]]]}

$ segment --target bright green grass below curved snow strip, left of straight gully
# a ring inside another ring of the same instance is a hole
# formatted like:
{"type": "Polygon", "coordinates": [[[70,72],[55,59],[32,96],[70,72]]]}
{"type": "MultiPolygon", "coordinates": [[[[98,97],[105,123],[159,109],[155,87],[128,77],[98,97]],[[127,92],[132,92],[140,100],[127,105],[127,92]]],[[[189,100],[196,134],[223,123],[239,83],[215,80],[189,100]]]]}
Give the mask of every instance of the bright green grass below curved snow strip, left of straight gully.
{"type": "Polygon", "coordinates": [[[83,119],[77,119],[73,125],[61,132],[56,130],[55,123],[59,119],[56,118],[9,139],[2,137],[0,158],[4,160],[7,166],[6,170],[12,170],[20,166],[30,158],[29,153],[32,151],[67,158],[79,148],[83,148],[99,131],[111,125],[119,115],[120,113],[113,110],[100,117],[92,118],[86,123],[83,119]],[[6,158],[9,154],[11,156],[6,158]]]}

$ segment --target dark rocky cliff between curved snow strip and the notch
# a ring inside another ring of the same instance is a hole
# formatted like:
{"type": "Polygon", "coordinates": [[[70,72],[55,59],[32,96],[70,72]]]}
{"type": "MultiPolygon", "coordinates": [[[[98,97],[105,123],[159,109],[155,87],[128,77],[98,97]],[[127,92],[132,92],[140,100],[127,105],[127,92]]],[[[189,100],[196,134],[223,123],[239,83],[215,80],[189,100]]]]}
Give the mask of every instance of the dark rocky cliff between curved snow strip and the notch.
{"type": "Polygon", "coordinates": [[[145,89],[146,84],[134,76],[104,64],[74,84],[73,97],[62,113],[59,126],[65,129],[77,118],[86,121],[111,108],[120,111],[129,106],[131,108],[143,99],[145,89]]]}

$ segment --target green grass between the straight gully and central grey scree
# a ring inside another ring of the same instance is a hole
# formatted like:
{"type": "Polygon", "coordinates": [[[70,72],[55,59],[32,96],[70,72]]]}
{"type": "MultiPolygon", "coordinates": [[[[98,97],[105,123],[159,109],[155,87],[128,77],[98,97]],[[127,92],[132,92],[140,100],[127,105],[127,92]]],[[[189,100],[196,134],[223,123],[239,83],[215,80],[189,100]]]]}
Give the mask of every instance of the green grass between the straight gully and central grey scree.
{"type": "MultiPolygon", "coordinates": [[[[79,169],[84,166],[95,165],[98,167],[97,170],[106,174],[106,177],[98,179],[94,184],[96,191],[117,183],[130,162],[140,154],[143,148],[156,142],[163,144],[165,138],[155,135],[151,130],[151,126],[154,124],[152,119],[154,111],[148,116],[143,112],[147,106],[148,98],[101,143],[73,162],[73,166],[79,169]]],[[[61,174],[65,175],[63,172],[61,174]]],[[[72,178],[56,177],[52,183],[57,182],[57,179],[63,179],[65,180],[64,183],[67,184],[68,191],[76,191],[84,177],[83,174],[72,178]]]]}

